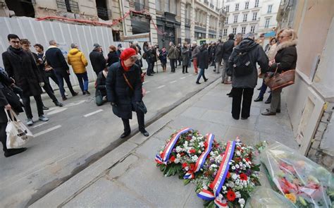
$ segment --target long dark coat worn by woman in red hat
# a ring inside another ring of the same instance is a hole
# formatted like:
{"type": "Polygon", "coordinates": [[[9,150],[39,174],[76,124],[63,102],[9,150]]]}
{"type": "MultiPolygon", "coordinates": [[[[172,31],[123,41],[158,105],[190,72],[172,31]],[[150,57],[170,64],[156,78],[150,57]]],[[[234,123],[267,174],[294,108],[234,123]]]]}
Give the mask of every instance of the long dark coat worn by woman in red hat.
{"type": "Polygon", "coordinates": [[[137,111],[136,102],[142,101],[142,81],[141,70],[137,64],[134,64],[129,71],[124,71],[120,62],[113,63],[109,67],[106,77],[106,93],[113,106],[113,114],[120,118],[132,119],[132,111],[137,111]],[[128,78],[133,90],[129,87],[123,73],[128,78]]]}

